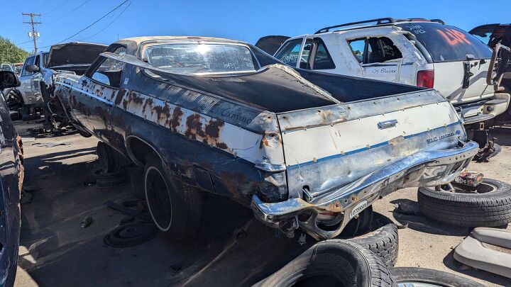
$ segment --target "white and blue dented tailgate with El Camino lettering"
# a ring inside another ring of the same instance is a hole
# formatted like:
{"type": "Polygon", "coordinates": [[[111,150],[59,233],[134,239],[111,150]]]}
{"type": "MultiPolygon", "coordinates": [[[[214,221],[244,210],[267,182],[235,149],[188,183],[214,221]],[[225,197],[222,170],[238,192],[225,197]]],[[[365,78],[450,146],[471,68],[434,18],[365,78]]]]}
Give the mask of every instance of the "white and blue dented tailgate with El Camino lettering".
{"type": "Polygon", "coordinates": [[[280,113],[278,120],[290,193],[313,196],[465,139],[454,108],[432,90],[280,113]]]}

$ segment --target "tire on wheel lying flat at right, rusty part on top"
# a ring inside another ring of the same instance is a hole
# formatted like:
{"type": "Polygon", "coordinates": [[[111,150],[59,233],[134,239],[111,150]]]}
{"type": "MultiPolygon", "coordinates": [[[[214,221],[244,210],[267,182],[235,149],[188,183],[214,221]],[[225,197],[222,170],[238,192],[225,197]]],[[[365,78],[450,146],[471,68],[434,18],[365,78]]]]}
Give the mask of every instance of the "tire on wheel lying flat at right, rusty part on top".
{"type": "Polygon", "coordinates": [[[483,179],[478,191],[455,193],[419,188],[419,208],[428,218],[451,225],[495,227],[511,222],[510,184],[483,179]],[[490,191],[488,188],[491,188],[490,191]]]}

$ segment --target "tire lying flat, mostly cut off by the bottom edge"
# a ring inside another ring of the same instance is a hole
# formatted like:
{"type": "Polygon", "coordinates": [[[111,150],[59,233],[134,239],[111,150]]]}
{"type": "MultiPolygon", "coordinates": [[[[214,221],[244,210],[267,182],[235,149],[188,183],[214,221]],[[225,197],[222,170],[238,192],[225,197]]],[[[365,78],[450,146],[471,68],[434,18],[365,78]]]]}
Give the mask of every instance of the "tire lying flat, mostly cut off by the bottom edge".
{"type": "MultiPolygon", "coordinates": [[[[441,287],[484,287],[483,284],[468,278],[444,271],[417,267],[397,267],[390,269],[390,273],[398,284],[429,283],[441,287]]],[[[406,285],[408,286],[408,285],[406,285]]],[[[412,285],[410,285],[412,286],[412,285]]]]}

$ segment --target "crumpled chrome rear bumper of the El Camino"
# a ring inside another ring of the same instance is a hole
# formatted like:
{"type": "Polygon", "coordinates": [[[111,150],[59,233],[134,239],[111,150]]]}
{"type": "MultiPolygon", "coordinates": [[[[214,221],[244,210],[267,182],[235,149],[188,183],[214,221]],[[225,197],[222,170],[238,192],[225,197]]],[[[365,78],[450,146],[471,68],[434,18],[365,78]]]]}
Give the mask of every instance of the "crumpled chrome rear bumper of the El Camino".
{"type": "Polygon", "coordinates": [[[254,195],[252,208],[257,218],[273,225],[299,214],[310,214],[309,218],[298,220],[300,227],[318,240],[329,239],[339,235],[353,217],[381,196],[401,188],[439,186],[453,181],[478,150],[476,142],[460,141],[458,147],[449,150],[417,152],[336,191],[308,200],[291,198],[279,203],[264,203],[254,195]],[[344,219],[334,230],[323,230],[316,220],[322,212],[344,213],[344,219]]]}

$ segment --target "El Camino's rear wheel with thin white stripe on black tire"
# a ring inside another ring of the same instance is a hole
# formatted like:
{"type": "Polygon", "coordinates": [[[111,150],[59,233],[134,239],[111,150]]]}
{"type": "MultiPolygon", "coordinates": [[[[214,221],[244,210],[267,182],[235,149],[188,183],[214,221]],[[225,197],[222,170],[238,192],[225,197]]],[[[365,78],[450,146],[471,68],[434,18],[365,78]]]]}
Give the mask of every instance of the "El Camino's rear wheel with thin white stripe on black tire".
{"type": "Polygon", "coordinates": [[[155,225],[172,240],[194,234],[202,215],[202,194],[183,184],[157,156],[145,159],[145,201],[155,225]]]}

